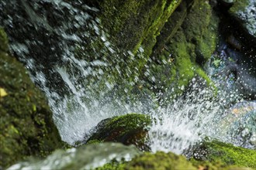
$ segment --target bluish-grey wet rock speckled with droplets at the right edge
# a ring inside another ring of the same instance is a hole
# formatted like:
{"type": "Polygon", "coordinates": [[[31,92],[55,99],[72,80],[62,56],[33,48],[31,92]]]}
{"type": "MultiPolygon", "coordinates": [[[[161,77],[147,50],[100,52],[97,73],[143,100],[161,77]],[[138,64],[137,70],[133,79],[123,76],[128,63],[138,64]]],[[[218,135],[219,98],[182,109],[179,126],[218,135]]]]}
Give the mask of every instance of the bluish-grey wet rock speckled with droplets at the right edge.
{"type": "Polygon", "coordinates": [[[219,84],[222,90],[235,91],[237,95],[246,100],[256,99],[256,70],[254,59],[248,57],[244,51],[239,51],[240,42],[234,37],[230,37],[232,47],[223,43],[217,53],[211,59],[206,70],[213,81],[219,84]],[[236,49],[234,49],[234,46],[236,49]],[[237,49],[238,48],[238,49],[237,49]]]}

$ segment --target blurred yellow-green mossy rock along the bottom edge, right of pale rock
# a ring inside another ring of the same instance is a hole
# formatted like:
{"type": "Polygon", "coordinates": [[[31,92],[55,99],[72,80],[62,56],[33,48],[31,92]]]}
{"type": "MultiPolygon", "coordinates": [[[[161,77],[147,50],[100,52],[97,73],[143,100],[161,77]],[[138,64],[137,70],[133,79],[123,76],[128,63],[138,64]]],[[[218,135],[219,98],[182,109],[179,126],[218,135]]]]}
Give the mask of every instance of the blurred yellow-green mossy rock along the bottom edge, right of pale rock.
{"type": "Polygon", "coordinates": [[[144,152],[142,155],[138,155],[133,158],[130,162],[111,162],[97,170],[105,169],[118,169],[118,170],[129,170],[129,169],[237,169],[237,170],[252,170],[253,168],[244,168],[240,165],[227,165],[223,162],[199,162],[195,160],[187,161],[182,155],[175,155],[174,153],[164,153],[157,151],[156,153],[144,152]]]}

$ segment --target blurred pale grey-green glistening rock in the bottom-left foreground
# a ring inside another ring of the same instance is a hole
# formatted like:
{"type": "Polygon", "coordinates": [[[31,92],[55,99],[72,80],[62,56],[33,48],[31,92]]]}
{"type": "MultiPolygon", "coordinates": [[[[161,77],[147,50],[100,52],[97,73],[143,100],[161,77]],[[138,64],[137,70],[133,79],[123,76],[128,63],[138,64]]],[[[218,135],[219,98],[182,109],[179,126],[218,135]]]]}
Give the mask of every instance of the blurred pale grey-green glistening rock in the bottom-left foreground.
{"type": "Polygon", "coordinates": [[[105,165],[112,159],[116,161],[130,161],[141,152],[134,146],[124,146],[118,143],[103,143],[97,145],[85,145],[79,148],[71,148],[54,151],[43,160],[30,158],[27,162],[12,165],[9,169],[94,169],[105,165]]]}

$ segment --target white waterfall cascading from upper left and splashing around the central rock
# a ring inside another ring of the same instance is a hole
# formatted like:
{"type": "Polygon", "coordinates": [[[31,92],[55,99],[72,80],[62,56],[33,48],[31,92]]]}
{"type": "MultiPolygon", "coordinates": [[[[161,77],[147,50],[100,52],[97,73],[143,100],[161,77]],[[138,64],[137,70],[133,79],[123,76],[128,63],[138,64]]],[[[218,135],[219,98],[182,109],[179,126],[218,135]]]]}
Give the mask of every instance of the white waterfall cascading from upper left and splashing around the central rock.
{"type": "MultiPolygon", "coordinates": [[[[250,142],[245,145],[241,139],[247,135],[247,141],[254,141],[255,126],[244,130],[236,126],[240,119],[233,117],[231,106],[244,101],[235,90],[216,94],[212,89],[201,89],[201,84],[193,79],[192,92],[156,108],[157,99],[150,95],[134,100],[126,93],[126,87],[116,88],[120,83],[113,81],[116,77],[112,73],[119,73],[115,75],[119,77],[134,73],[130,68],[125,73],[121,69],[123,63],[134,59],[133,53],[124,52],[122,55],[130,56],[126,57],[130,60],[123,61],[119,49],[109,42],[107,30],[95,17],[97,8],[80,1],[6,0],[0,3],[0,9],[4,11],[0,24],[9,34],[10,48],[46,94],[63,141],[72,145],[89,135],[99,121],[137,112],[149,114],[155,120],[149,132],[153,151],[180,154],[206,136],[247,148],[255,146],[250,142]],[[52,10],[51,15],[45,6],[52,10]],[[116,89],[122,89],[121,97],[116,89]],[[229,132],[232,126],[233,131],[240,131],[240,137],[229,132]]],[[[140,48],[141,57],[143,52],[140,48]]],[[[140,80],[135,76],[133,81],[121,84],[133,86],[137,81],[140,80]]],[[[241,119],[253,121],[255,102],[247,103],[246,108],[249,110],[240,115],[241,119]],[[250,111],[253,117],[248,114],[250,111]]]]}

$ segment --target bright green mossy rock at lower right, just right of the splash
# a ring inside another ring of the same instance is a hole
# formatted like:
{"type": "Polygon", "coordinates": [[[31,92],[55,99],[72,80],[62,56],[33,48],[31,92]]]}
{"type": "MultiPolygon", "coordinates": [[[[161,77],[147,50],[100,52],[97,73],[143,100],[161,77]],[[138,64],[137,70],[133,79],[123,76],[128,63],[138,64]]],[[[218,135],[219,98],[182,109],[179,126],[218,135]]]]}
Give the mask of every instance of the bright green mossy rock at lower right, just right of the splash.
{"type": "MultiPolygon", "coordinates": [[[[247,148],[236,147],[220,141],[203,141],[200,145],[192,148],[190,156],[194,161],[222,162],[220,165],[234,165],[237,167],[256,168],[256,151],[247,148]]],[[[190,157],[189,156],[189,157],[190,157]]]]}

